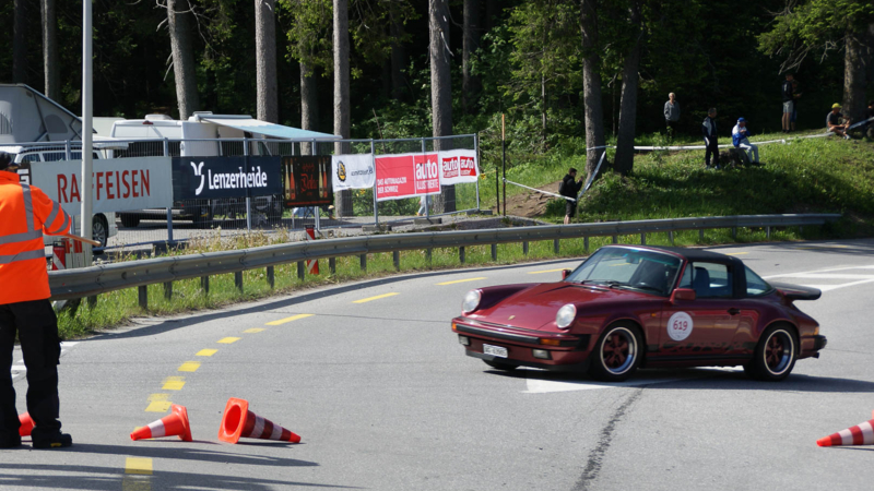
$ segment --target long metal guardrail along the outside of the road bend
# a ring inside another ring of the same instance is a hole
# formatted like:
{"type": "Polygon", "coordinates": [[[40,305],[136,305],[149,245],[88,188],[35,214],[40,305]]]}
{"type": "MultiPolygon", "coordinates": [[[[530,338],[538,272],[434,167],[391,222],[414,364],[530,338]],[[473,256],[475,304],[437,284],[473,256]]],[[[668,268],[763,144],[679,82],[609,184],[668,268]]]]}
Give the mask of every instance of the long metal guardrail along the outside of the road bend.
{"type": "Polygon", "coordinates": [[[498,243],[522,242],[523,250],[527,251],[528,242],[553,240],[555,251],[558,252],[560,239],[583,238],[588,249],[590,237],[612,236],[613,242],[617,243],[617,236],[640,233],[641,243],[646,243],[647,233],[669,232],[673,242],[673,232],[680,230],[698,229],[704,235],[704,229],[731,228],[736,231],[739,227],[760,227],[770,236],[771,227],[824,225],[840,217],[840,214],[739,215],[324,239],[51,272],[49,284],[52,300],[69,300],[139,287],[140,304],[146,307],[147,285],[164,284],[165,295],[168,295],[167,291],[172,292],[172,282],[200,277],[204,289],[209,291],[209,276],[235,273],[237,288],[243,289],[244,271],[265,267],[268,282],[272,286],[273,266],[296,262],[298,276],[303,277],[303,261],[306,260],[329,259],[333,270],[334,258],[361,255],[362,268],[366,270],[367,254],[393,252],[398,268],[399,251],[403,250],[459,248],[459,260],[463,263],[464,248],[471,246],[492,244],[492,258],[496,260],[498,243]]]}

